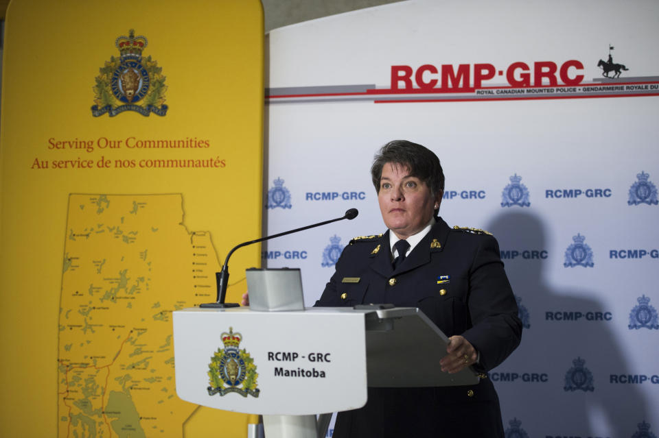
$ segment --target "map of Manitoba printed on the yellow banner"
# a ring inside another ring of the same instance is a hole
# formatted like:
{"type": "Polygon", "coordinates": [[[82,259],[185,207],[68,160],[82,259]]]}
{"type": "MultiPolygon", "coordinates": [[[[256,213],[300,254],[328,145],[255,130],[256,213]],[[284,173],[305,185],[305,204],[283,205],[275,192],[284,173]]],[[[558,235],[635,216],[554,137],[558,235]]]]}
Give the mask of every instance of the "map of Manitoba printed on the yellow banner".
{"type": "Polygon", "coordinates": [[[181,195],[69,195],[58,345],[58,437],[182,437],[172,311],[216,297],[207,232],[181,195]]]}

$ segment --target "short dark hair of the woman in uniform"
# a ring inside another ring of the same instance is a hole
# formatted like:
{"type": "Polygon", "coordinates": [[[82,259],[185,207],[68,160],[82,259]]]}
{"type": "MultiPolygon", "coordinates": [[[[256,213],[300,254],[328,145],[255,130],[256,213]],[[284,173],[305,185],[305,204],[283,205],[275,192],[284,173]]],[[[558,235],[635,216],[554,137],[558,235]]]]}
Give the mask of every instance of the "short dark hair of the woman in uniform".
{"type": "Polygon", "coordinates": [[[382,146],[373,157],[371,179],[377,193],[380,193],[382,167],[388,162],[410,169],[410,175],[424,182],[433,196],[444,191],[444,171],[435,152],[411,141],[394,140],[382,146]]]}

